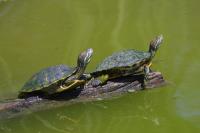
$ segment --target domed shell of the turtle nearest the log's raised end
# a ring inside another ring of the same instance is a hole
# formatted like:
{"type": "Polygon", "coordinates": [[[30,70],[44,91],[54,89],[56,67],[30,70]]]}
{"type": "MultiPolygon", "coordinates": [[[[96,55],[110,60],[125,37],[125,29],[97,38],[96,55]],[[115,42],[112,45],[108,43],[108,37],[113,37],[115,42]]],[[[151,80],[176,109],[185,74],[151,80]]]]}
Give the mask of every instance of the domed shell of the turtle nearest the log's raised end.
{"type": "Polygon", "coordinates": [[[132,67],[134,65],[140,67],[140,65],[149,61],[150,58],[151,53],[149,52],[123,50],[105,58],[96,68],[96,72],[108,71],[110,69],[118,69],[120,71],[120,68],[132,67]]]}

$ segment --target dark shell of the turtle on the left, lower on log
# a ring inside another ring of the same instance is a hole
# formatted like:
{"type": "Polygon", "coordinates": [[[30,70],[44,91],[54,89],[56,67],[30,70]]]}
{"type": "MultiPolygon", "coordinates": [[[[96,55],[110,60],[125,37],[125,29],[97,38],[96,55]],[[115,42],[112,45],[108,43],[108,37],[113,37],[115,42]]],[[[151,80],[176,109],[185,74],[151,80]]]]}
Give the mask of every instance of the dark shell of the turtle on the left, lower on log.
{"type": "Polygon", "coordinates": [[[71,76],[74,72],[75,68],[66,65],[56,65],[42,69],[24,84],[20,92],[33,92],[48,88],[48,86],[71,76]]]}

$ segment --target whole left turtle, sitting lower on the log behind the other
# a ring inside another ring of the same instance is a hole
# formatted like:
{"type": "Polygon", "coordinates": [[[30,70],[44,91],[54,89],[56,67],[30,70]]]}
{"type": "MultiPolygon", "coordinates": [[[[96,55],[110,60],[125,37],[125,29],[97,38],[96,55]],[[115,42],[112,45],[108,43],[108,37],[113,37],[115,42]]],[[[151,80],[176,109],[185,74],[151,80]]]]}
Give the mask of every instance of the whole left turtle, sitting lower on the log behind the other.
{"type": "Polygon", "coordinates": [[[48,97],[83,85],[85,80],[80,77],[90,62],[92,54],[92,48],[80,53],[76,67],[61,64],[40,70],[24,84],[19,91],[18,97],[28,98],[35,95],[48,97]]]}

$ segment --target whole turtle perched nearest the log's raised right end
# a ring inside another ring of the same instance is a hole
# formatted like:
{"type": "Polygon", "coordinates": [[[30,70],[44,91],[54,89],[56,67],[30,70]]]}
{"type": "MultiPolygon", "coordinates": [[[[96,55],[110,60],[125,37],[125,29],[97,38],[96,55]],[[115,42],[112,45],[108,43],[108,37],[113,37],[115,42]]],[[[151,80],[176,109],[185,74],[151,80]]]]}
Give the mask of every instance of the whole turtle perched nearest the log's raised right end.
{"type": "Polygon", "coordinates": [[[150,41],[148,51],[128,49],[106,57],[96,70],[90,73],[90,77],[94,79],[92,85],[103,85],[109,79],[131,75],[143,75],[145,83],[148,80],[151,61],[162,41],[163,36],[159,35],[150,41]]]}

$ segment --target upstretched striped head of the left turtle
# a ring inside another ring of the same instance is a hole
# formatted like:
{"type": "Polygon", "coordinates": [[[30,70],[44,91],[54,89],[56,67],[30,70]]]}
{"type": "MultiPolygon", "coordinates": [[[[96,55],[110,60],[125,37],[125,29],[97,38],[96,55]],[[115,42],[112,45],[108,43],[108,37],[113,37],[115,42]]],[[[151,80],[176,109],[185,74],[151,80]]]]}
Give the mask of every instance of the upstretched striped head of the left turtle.
{"type": "Polygon", "coordinates": [[[93,54],[93,49],[89,48],[78,56],[77,66],[79,69],[85,69],[93,54]]]}

